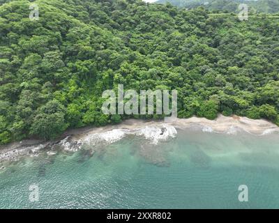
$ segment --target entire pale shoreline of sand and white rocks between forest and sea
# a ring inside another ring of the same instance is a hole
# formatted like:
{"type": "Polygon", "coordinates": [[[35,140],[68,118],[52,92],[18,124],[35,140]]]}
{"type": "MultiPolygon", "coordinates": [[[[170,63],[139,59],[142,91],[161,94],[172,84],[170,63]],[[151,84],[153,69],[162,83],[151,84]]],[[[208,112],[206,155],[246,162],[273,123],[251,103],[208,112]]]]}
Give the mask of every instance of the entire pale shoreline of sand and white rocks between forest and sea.
{"type": "MultiPolygon", "coordinates": [[[[169,137],[174,138],[176,130],[199,128],[202,132],[216,132],[220,134],[236,134],[239,130],[249,134],[265,135],[279,133],[279,127],[264,119],[250,119],[241,116],[223,116],[211,121],[206,118],[174,118],[172,121],[128,119],[117,125],[106,125],[104,127],[84,127],[67,130],[56,141],[43,141],[36,139],[25,139],[0,146],[0,161],[15,160],[20,155],[36,155],[37,151],[52,146],[61,145],[66,151],[77,151],[81,144],[95,144],[95,141],[105,141],[108,144],[122,139],[126,134],[144,136],[157,144],[169,137]],[[162,132],[163,131],[163,132],[162,132]],[[73,143],[74,142],[74,143],[73,143]]],[[[50,152],[50,155],[53,152],[50,152]]]]}

